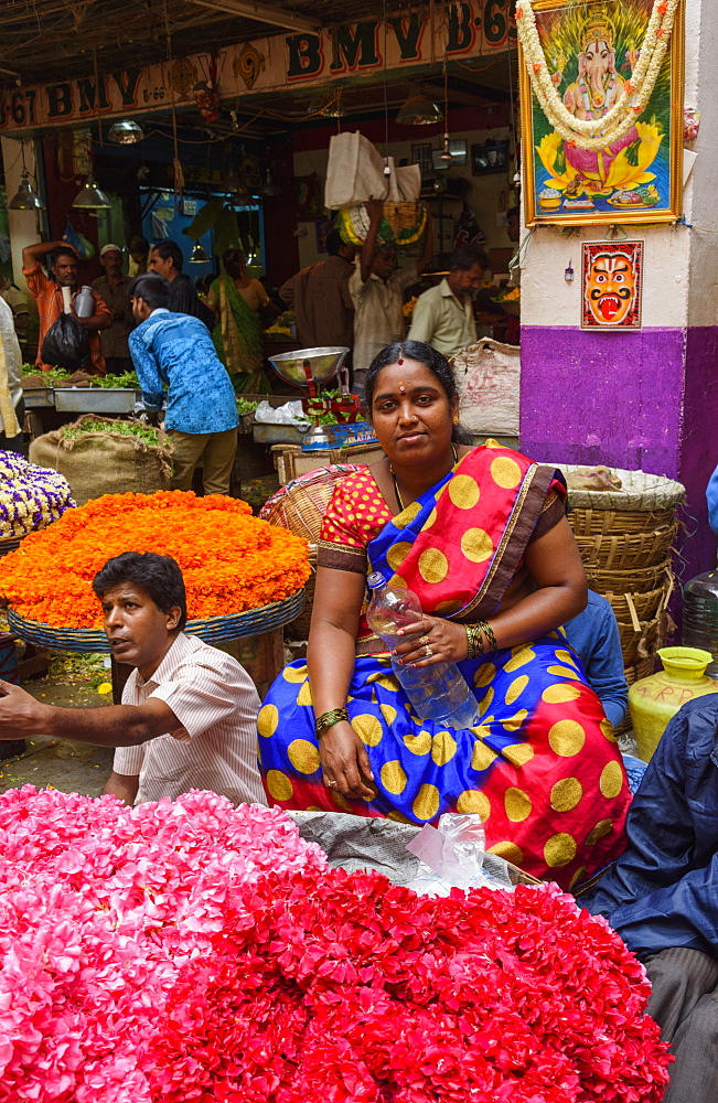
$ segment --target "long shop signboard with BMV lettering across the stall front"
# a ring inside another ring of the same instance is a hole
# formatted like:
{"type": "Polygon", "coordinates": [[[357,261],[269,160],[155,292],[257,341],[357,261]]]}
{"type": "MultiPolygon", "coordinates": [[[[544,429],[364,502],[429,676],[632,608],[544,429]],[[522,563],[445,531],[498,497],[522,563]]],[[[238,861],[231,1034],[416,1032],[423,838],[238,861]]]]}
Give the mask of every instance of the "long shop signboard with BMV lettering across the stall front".
{"type": "Polygon", "coordinates": [[[178,57],[158,65],[112,69],[0,94],[0,135],[147,114],[196,104],[214,84],[227,106],[240,96],[351,82],[385,68],[416,69],[449,58],[484,57],[515,46],[512,0],[458,0],[386,20],[366,19],[315,34],[276,34],[178,57]],[[216,68],[215,68],[216,65],[216,68]],[[212,75],[216,72],[213,82],[212,75]],[[199,86],[199,87],[197,87],[199,86]]]}

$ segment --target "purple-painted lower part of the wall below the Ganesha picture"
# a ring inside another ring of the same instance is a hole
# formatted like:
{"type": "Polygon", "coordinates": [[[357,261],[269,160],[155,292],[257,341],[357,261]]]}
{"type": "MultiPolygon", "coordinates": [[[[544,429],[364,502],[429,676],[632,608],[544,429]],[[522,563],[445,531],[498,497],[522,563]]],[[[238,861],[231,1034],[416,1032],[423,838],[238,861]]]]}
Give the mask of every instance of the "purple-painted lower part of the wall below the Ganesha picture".
{"type": "Polygon", "coordinates": [[[718,329],[601,333],[522,326],[521,448],[685,484],[684,580],[715,564],[705,490],[718,464],[718,329]]]}

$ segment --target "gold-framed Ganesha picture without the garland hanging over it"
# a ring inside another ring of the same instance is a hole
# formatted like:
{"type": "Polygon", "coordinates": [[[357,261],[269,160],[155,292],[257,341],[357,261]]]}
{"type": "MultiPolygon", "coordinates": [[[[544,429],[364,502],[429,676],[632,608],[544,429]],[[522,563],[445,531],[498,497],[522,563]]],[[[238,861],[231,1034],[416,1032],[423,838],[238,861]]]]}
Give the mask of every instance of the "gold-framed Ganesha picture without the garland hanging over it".
{"type": "MultiPolygon", "coordinates": [[[[568,109],[610,106],[610,96],[618,98],[631,76],[653,0],[534,0],[533,8],[551,78],[568,109]],[[594,46],[587,35],[599,26],[604,39],[594,46]]],[[[533,90],[519,43],[527,226],[645,225],[682,217],[684,40],[679,3],[645,110],[625,138],[598,152],[570,147],[556,133],[533,90]]]]}

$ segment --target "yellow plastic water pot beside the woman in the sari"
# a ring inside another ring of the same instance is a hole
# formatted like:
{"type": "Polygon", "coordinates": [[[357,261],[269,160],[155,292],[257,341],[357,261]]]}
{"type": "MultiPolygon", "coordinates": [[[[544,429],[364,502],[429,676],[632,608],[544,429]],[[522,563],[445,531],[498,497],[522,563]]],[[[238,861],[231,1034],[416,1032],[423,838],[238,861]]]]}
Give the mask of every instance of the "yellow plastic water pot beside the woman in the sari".
{"type": "Polygon", "coordinates": [[[629,689],[629,708],[639,754],[649,762],[661,736],[682,705],[695,697],[718,693],[718,682],[706,675],[712,662],[709,651],[699,647],[662,647],[663,670],[634,682],[629,689]]]}

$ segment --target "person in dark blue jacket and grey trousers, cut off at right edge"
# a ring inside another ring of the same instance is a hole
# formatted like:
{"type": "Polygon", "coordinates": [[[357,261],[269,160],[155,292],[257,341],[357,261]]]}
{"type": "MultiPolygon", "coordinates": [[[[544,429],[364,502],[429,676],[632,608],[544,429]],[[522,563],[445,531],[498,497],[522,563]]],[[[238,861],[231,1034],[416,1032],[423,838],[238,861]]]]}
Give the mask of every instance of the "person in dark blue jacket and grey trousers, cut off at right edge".
{"type": "Polygon", "coordinates": [[[579,903],[608,919],[653,985],[672,1042],[665,1103],[718,1100],[718,694],[676,713],[626,823],[628,846],[579,903]]]}

